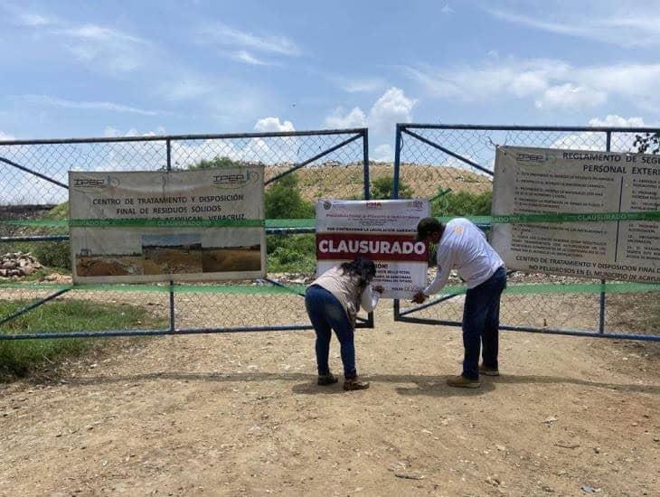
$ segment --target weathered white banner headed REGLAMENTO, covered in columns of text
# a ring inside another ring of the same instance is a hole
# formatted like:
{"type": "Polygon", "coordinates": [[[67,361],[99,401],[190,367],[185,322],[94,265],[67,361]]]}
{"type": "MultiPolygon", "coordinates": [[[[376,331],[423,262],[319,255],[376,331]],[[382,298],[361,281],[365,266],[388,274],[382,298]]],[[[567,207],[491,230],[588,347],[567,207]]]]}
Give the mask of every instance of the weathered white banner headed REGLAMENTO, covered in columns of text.
{"type": "Polygon", "coordinates": [[[657,155],[500,146],[492,213],[512,219],[495,222],[493,246],[510,269],[658,283],[659,202],[657,155]]]}

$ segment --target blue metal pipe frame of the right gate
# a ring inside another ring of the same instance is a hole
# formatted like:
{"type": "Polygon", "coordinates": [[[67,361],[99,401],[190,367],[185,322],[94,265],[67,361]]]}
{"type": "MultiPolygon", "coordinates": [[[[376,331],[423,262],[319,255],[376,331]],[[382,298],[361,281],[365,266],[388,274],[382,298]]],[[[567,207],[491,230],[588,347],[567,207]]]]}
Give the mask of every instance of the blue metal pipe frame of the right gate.
{"type": "MultiPolygon", "coordinates": [[[[473,168],[478,169],[483,173],[487,173],[494,177],[495,172],[490,171],[486,167],[483,167],[479,164],[476,164],[474,161],[471,161],[463,155],[459,155],[455,152],[452,152],[448,148],[420,136],[415,133],[414,129],[463,129],[467,131],[534,131],[534,132],[543,132],[543,131],[554,131],[554,132],[595,132],[595,133],[605,133],[606,140],[606,149],[603,152],[610,152],[611,149],[611,140],[613,133],[649,133],[657,134],[660,133],[660,128],[658,127],[561,127],[561,126],[502,126],[502,125],[465,125],[465,124],[420,124],[420,123],[397,123],[396,125],[396,135],[394,142],[394,178],[392,186],[392,199],[399,198],[399,184],[400,184],[400,173],[401,173],[401,148],[403,146],[403,135],[408,135],[415,140],[420,141],[425,145],[429,145],[444,154],[450,155],[455,159],[461,161],[464,164],[467,164],[473,168]]],[[[443,167],[443,166],[441,166],[443,167]]],[[[480,225],[479,228],[484,230],[484,228],[490,228],[490,225],[480,225]]],[[[513,274],[514,270],[507,272],[507,277],[513,274]]],[[[606,280],[600,280],[601,284],[605,284],[606,280]]],[[[420,317],[410,317],[409,314],[415,313],[422,309],[426,309],[433,305],[438,305],[442,302],[445,302],[449,299],[456,297],[457,295],[444,295],[438,297],[434,300],[422,305],[414,305],[406,309],[401,310],[401,301],[399,299],[394,300],[393,305],[393,318],[394,321],[401,321],[405,323],[415,323],[415,324],[439,324],[444,326],[461,326],[462,323],[457,321],[448,321],[440,319],[431,319],[431,318],[420,318],[420,317]]],[[[535,328],[532,326],[514,326],[507,324],[500,324],[500,330],[507,330],[512,332],[524,332],[524,333],[542,333],[542,334],[557,334],[557,335],[569,335],[569,336],[585,336],[585,337],[595,337],[595,338],[610,338],[618,340],[639,340],[645,342],[660,342],[660,334],[657,335],[645,335],[638,333],[606,333],[605,332],[605,313],[606,313],[606,293],[605,291],[600,292],[599,296],[599,331],[598,332],[589,332],[586,330],[570,330],[570,329],[545,329],[545,328],[535,328]]]]}

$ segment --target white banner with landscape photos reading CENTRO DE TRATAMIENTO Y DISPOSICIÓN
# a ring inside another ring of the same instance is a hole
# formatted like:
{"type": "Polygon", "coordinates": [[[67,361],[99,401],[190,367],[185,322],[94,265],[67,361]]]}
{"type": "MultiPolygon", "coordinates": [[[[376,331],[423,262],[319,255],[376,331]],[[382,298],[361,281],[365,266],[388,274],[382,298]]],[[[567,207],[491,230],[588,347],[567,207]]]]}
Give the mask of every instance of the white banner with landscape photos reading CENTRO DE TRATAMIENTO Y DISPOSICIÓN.
{"type": "Polygon", "coordinates": [[[264,277],[263,167],[69,173],[74,283],[264,277]]]}

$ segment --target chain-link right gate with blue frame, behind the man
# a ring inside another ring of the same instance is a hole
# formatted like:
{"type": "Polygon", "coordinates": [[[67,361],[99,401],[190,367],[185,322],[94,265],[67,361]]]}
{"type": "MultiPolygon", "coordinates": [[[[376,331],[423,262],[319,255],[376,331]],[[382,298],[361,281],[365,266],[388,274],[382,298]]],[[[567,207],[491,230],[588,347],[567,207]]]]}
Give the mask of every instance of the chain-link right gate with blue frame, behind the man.
{"type": "MultiPolygon", "coordinates": [[[[394,195],[395,198],[400,195],[429,198],[437,208],[454,209],[449,212],[453,216],[467,214],[461,211],[461,198],[468,199],[472,206],[479,202],[486,203],[489,210],[488,195],[492,192],[497,145],[657,154],[659,131],[657,128],[401,124],[396,129],[394,195]],[[645,147],[645,144],[650,146],[645,147]]],[[[481,228],[487,231],[489,226],[481,228]]],[[[453,281],[460,284],[457,279],[453,281]]],[[[510,289],[523,283],[559,287],[567,283],[604,282],[585,282],[583,279],[544,274],[509,274],[510,289]]],[[[605,292],[505,293],[500,328],[534,333],[660,340],[657,317],[655,321],[651,318],[660,307],[660,293],[656,291],[657,286],[654,289],[655,292],[627,295],[605,292]]],[[[394,319],[459,326],[463,301],[463,295],[444,295],[425,305],[409,303],[406,307],[397,301],[394,303],[394,319]]]]}

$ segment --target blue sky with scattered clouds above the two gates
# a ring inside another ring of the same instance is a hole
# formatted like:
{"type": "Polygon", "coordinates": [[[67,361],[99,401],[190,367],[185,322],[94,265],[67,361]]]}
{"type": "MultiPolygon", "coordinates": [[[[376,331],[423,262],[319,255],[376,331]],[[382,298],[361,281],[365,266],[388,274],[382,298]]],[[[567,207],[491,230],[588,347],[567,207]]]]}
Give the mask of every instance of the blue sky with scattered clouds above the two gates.
{"type": "Polygon", "coordinates": [[[0,139],[660,126],[660,3],[0,0],[0,139]],[[643,7],[643,10],[640,9],[643,7]]]}

